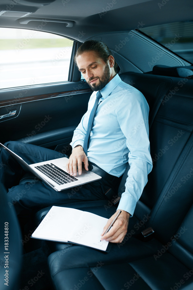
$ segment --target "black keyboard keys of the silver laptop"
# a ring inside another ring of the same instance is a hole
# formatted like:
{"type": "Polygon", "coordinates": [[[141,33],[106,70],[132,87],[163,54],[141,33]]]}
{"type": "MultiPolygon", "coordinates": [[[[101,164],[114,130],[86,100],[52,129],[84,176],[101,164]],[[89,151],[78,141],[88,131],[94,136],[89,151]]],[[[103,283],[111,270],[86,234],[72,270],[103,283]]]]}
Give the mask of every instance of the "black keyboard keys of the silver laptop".
{"type": "Polygon", "coordinates": [[[78,180],[76,177],[71,176],[53,163],[39,165],[35,168],[38,169],[40,172],[44,173],[47,177],[49,177],[59,185],[78,180]]]}

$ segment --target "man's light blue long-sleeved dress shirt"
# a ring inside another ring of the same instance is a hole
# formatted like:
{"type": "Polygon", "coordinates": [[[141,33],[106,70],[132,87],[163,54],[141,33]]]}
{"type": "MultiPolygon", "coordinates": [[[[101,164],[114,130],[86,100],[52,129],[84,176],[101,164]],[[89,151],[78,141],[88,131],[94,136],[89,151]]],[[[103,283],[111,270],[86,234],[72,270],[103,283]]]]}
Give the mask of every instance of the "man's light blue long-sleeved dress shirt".
{"type": "MultiPolygon", "coordinates": [[[[137,201],[152,170],[148,113],[144,95],[124,83],[119,75],[100,91],[102,97],[96,110],[88,148],[88,160],[107,173],[120,177],[129,162],[130,169],[117,209],[133,215],[137,201]]],[[[93,92],[88,110],[73,134],[71,146],[84,144],[90,112],[96,93],[93,92]]]]}

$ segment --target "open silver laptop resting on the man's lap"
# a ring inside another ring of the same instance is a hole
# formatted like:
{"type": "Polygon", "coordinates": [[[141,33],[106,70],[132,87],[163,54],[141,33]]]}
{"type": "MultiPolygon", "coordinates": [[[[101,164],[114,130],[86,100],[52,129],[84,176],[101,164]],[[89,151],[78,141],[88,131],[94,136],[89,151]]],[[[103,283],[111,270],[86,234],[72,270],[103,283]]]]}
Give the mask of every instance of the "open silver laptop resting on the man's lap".
{"type": "Polygon", "coordinates": [[[66,157],[29,165],[19,155],[11,151],[3,144],[0,143],[0,146],[10,153],[10,155],[22,164],[28,171],[32,172],[36,177],[43,180],[56,191],[62,191],[92,181],[100,180],[102,178],[100,175],[92,171],[86,171],[83,168],[81,175],[77,172],[76,176],[71,176],[66,170],[66,163],[69,160],[66,157]]]}

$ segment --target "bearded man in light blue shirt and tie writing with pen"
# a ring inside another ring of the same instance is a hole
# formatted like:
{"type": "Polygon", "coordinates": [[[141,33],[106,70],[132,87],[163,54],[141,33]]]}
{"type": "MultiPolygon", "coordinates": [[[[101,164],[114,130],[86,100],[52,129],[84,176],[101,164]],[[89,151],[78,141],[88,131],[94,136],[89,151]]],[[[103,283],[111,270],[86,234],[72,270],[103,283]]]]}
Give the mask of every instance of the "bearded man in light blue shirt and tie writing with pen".
{"type": "MultiPolygon", "coordinates": [[[[122,82],[116,74],[117,64],[109,48],[102,41],[86,41],[78,49],[75,61],[94,92],[89,100],[87,112],[74,131],[71,142],[73,150],[67,163],[67,171],[70,175],[76,176],[77,166],[78,173],[81,174],[82,162],[86,170],[91,162],[102,172],[102,180],[79,187],[72,199],[69,199],[66,191],[56,193],[47,184],[38,181],[19,197],[15,208],[18,213],[24,213],[28,209],[53,204],[105,199],[104,192],[117,186],[119,177],[129,162],[126,189],[117,208],[117,211],[122,210],[122,213],[111,231],[104,235],[117,213],[108,220],[101,238],[120,243],[126,235],[129,217],[133,215],[136,202],[147,182],[147,175],[152,169],[148,139],[149,108],[144,96],[137,89],[122,82]],[[100,91],[98,96],[97,91],[100,91]],[[90,122],[89,116],[94,106],[96,111],[90,122]],[[91,132],[88,129],[90,123],[92,123],[91,132]]],[[[56,158],[55,151],[37,148],[31,144],[8,142],[6,145],[19,152],[29,163],[51,160],[53,156],[56,158]]],[[[3,164],[5,162],[8,164],[7,169],[1,174],[1,180],[4,184],[7,183],[9,188],[8,176],[15,176],[17,172],[15,179],[18,180],[22,169],[7,152],[2,151],[1,155],[3,164]]],[[[8,195],[12,201],[22,192],[23,186],[13,186],[9,189],[8,195]]]]}

